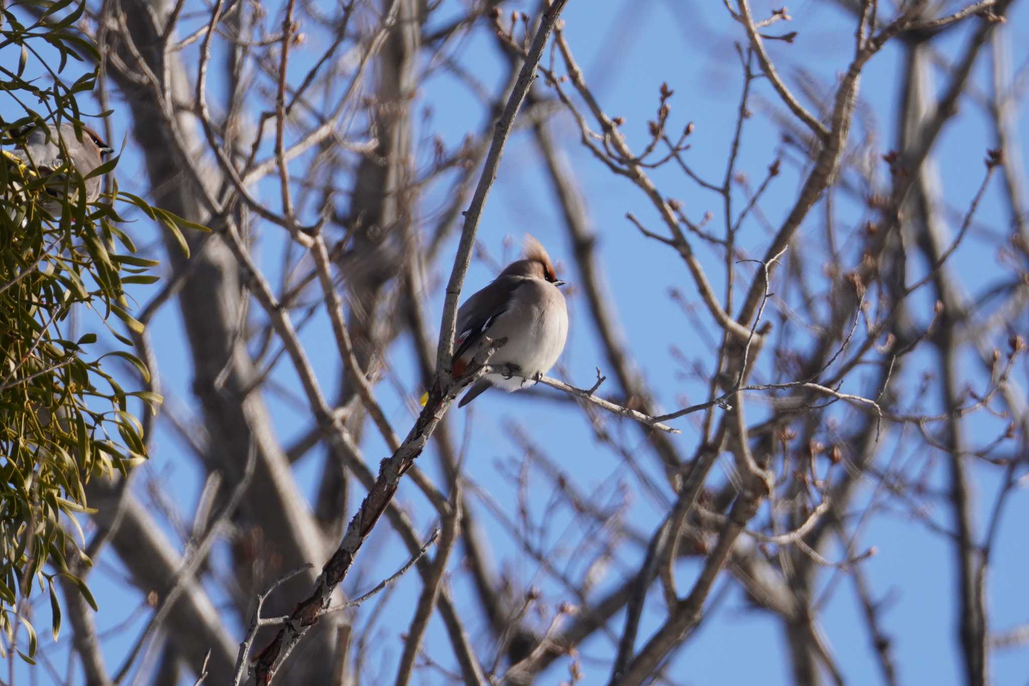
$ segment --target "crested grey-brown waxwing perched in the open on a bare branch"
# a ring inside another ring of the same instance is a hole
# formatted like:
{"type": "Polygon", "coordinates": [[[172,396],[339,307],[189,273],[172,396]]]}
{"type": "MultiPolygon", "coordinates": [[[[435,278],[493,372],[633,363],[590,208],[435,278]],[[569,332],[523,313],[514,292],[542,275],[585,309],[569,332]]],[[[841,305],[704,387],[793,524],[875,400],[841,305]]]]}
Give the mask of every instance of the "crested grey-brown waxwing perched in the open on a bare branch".
{"type": "Polygon", "coordinates": [[[508,264],[486,288],[457,311],[454,375],[464,373],[484,335],[507,338],[489,364],[509,373],[492,372],[481,378],[458,403],[463,407],[483,391],[496,386],[508,393],[535,384],[558,361],[568,335],[568,309],[558,290],[565,282],[554,273],[551,256],[539,241],[526,234],[523,258],[508,264]]]}

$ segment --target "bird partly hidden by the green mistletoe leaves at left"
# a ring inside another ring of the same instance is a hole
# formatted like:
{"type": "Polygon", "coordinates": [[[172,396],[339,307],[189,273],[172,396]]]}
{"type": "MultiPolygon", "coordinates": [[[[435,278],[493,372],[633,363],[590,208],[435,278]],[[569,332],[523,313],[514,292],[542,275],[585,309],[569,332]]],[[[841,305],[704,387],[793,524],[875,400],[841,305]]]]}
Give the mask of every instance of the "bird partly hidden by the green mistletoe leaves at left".
{"type": "MultiPolygon", "coordinates": [[[[50,195],[61,196],[68,193],[69,200],[75,202],[78,197],[75,180],[68,179],[63,173],[55,173],[65,166],[65,152],[70,166],[85,177],[104,163],[104,155],[111,152],[111,148],[104,143],[97,132],[86,125],[81,127],[81,140],[76,136],[74,124],[68,122],[61,124],[60,135],[59,130],[52,125],[29,125],[31,129],[25,143],[14,151],[5,150],[4,155],[22,166],[25,172],[46,178],[46,191],[50,195]]],[[[15,138],[21,138],[25,134],[24,129],[11,132],[15,138]]],[[[101,181],[99,176],[85,180],[86,202],[92,203],[100,196],[101,181]]],[[[60,212],[61,204],[51,202],[45,207],[50,212],[60,212]]]]}

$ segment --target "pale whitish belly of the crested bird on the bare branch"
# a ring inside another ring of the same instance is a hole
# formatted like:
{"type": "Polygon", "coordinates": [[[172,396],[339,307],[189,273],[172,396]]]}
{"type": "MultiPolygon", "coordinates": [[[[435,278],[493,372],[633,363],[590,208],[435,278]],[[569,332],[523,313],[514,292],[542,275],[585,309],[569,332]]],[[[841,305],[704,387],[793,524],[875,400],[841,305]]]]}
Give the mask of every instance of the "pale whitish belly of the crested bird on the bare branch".
{"type": "Polygon", "coordinates": [[[539,308],[530,310],[523,319],[529,324],[508,333],[507,344],[490,360],[495,365],[516,362],[521,367],[521,373],[509,378],[500,373],[486,375],[491,384],[508,393],[532,386],[536,383],[533,376],[549,371],[561,356],[568,335],[568,312],[565,308],[551,308],[545,312],[539,308]]]}

